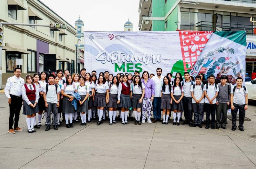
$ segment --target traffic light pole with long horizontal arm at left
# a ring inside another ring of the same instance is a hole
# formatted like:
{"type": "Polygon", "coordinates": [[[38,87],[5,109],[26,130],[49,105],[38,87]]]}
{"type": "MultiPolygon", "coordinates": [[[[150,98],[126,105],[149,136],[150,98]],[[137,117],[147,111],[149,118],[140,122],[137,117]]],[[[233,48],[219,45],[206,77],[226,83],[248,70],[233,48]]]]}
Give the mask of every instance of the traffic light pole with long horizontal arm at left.
{"type": "Polygon", "coordinates": [[[23,24],[23,23],[10,23],[10,22],[0,22],[0,88],[2,88],[2,52],[4,46],[4,27],[3,25],[22,25],[22,26],[44,26],[50,29],[67,29],[66,24],[50,24],[50,25],[40,25],[40,24],[23,24]]]}

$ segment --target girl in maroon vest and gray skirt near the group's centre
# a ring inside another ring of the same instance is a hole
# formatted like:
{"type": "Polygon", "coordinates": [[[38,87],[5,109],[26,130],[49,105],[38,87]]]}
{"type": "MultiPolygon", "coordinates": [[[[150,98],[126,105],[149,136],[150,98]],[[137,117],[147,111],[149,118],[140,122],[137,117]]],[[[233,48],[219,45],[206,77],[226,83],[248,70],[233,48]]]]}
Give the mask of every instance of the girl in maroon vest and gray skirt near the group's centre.
{"type": "Polygon", "coordinates": [[[117,98],[118,107],[121,107],[122,124],[129,124],[127,121],[127,117],[128,109],[131,107],[132,90],[131,84],[128,82],[127,75],[123,76],[121,85],[118,86],[117,98]]]}

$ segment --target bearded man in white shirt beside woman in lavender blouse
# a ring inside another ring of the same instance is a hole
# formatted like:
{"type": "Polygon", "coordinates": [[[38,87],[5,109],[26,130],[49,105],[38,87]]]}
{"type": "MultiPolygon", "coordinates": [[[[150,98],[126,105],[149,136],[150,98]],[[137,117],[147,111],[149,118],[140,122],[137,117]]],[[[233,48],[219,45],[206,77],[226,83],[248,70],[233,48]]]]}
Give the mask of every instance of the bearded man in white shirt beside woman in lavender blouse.
{"type": "Polygon", "coordinates": [[[164,83],[164,76],[162,74],[162,69],[157,68],[156,69],[156,75],[152,77],[152,80],[155,84],[155,95],[154,95],[154,100],[153,100],[153,115],[154,115],[154,120],[153,123],[156,123],[156,121],[163,122],[161,120],[161,89],[164,83]]]}

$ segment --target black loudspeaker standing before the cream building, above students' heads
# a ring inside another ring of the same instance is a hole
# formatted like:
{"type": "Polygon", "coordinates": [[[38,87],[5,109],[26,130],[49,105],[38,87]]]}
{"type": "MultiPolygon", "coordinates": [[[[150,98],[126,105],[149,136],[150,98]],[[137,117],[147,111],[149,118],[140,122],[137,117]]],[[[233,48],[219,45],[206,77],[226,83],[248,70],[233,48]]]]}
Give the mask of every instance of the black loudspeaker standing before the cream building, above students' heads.
{"type": "Polygon", "coordinates": [[[44,54],[44,71],[56,72],[56,54],[44,54]]]}

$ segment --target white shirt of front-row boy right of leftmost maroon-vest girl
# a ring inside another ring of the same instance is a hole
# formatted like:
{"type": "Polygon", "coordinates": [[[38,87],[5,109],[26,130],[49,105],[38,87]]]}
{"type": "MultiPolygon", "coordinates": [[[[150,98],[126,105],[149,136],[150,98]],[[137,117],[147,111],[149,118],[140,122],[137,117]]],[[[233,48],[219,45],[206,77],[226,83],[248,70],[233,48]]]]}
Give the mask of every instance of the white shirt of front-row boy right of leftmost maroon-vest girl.
{"type": "MultiPolygon", "coordinates": [[[[63,86],[63,85],[62,85],[63,86]]],[[[64,86],[63,86],[64,88],[64,86]]],[[[46,93],[46,86],[43,88],[43,93],[46,94],[46,102],[50,102],[50,103],[58,103],[58,96],[57,93],[60,93],[60,86],[58,85],[57,87],[57,92],[56,92],[56,87],[55,87],[55,83],[53,85],[51,85],[50,83],[48,83],[48,91],[46,93]]]]}

